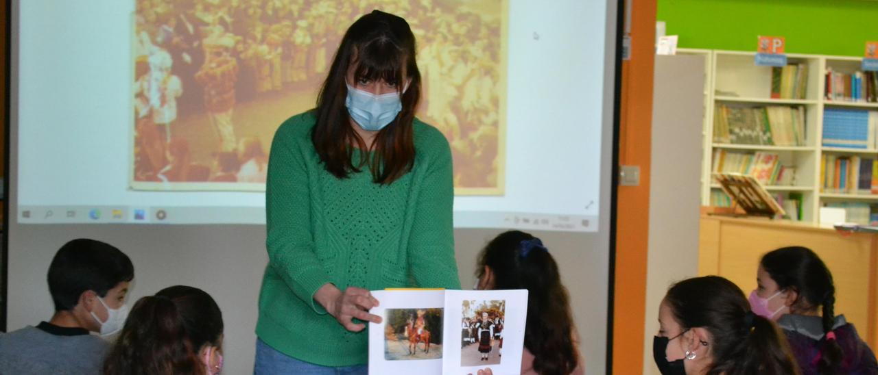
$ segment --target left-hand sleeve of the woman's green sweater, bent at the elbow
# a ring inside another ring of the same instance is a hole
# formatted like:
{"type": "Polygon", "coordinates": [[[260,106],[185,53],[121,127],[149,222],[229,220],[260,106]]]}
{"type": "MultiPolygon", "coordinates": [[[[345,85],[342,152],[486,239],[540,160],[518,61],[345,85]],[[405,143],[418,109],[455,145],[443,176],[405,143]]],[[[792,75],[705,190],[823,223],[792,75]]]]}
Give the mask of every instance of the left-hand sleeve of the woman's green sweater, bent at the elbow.
{"type": "Polygon", "coordinates": [[[315,253],[306,156],[292,125],[282,125],[271,142],[265,186],[265,247],[269,266],[292,293],[314,312],[326,314],[326,309],[314,301],[314,294],[330,279],[315,253]]]}

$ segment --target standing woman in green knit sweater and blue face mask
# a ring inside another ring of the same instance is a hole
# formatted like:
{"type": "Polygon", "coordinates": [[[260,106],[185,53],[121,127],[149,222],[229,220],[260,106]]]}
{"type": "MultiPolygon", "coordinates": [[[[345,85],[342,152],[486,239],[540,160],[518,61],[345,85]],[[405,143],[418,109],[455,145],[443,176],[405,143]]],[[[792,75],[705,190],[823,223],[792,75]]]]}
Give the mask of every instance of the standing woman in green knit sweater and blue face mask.
{"type": "Polygon", "coordinates": [[[364,322],[381,321],[369,290],[460,288],[450,148],[414,118],[414,52],[404,19],[357,19],[317,107],[275,134],[257,374],[365,373],[364,322]]]}

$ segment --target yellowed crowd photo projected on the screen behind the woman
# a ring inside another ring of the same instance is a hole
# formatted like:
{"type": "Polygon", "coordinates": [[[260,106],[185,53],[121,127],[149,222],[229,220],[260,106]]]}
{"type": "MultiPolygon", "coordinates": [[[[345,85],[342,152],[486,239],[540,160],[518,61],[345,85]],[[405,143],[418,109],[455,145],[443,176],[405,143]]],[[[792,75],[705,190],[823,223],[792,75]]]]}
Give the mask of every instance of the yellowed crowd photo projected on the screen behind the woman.
{"type": "Polygon", "coordinates": [[[458,195],[502,195],[506,0],[137,0],[133,166],[142,190],[264,190],[277,126],[313,108],[343,33],[381,9],[418,38],[419,117],[458,195]]]}

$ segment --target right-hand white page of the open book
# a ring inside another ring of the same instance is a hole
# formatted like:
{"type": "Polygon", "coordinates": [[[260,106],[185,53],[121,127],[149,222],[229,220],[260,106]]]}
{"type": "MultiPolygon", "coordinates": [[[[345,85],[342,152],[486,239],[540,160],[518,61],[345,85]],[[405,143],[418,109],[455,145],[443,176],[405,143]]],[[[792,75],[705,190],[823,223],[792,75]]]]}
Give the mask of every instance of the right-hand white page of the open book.
{"type": "Polygon", "coordinates": [[[443,374],[521,372],[527,290],[449,290],[444,306],[443,374]]]}

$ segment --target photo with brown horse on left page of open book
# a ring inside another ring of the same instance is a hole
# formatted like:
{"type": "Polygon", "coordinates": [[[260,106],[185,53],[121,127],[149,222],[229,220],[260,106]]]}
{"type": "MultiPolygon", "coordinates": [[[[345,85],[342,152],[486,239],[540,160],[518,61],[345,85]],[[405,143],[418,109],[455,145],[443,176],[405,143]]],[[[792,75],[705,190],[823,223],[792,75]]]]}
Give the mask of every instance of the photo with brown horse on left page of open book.
{"type": "Polygon", "coordinates": [[[442,358],[442,308],[388,308],[385,322],[385,360],[442,358]]]}

